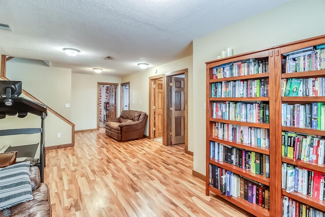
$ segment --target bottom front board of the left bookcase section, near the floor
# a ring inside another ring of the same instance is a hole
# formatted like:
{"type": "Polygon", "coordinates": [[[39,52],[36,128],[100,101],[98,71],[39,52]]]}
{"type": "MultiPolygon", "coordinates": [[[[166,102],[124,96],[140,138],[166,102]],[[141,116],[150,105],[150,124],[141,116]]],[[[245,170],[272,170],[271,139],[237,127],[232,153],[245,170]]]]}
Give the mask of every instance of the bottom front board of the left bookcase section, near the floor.
{"type": "Polygon", "coordinates": [[[265,209],[262,208],[261,206],[258,206],[256,204],[253,203],[249,203],[246,200],[242,199],[242,198],[238,198],[238,197],[227,197],[225,195],[222,195],[221,192],[218,189],[213,188],[212,186],[208,187],[209,191],[213,192],[214,194],[216,194],[217,196],[235,204],[236,206],[241,207],[242,209],[248,211],[250,213],[252,213],[255,216],[272,216],[270,215],[270,212],[265,209]]]}

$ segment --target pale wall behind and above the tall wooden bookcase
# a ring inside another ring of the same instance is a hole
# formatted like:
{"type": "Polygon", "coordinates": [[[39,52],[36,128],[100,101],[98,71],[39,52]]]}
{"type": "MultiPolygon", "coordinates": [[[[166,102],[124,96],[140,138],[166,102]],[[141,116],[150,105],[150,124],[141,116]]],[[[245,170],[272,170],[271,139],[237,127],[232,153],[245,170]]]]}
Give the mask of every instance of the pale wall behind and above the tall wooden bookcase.
{"type": "MultiPolygon", "coordinates": [[[[325,34],[323,0],[294,0],[265,13],[249,17],[193,41],[193,170],[205,174],[206,61],[216,59],[227,47],[234,54],[259,50],[325,34]]],[[[271,144],[275,145],[275,144],[271,144]]]]}

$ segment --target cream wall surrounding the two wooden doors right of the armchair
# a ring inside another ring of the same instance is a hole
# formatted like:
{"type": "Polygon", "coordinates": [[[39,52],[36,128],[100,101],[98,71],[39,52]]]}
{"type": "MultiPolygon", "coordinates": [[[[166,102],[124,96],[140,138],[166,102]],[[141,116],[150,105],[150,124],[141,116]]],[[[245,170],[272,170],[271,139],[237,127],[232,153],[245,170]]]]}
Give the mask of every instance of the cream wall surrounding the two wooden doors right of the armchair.
{"type": "MultiPolygon", "coordinates": [[[[192,91],[192,56],[187,56],[168,64],[141,70],[137,73],[122,77],[122,83],[130,82],[130,104],[129,109],[144,111],[149,114],[149,77],[161,75],[177,70],[187,69],[188,81],[188,150],[193,151],[192,143],[192,117],[193,117],[193,91],[192,91]],[[155,70],[157,73],[155,74],[155,70]]],[[[203,104],[202,104],[203,106],[203,104]]],[[[145,135],[149,135],[149,123],[147,122],[145,135]]]]}

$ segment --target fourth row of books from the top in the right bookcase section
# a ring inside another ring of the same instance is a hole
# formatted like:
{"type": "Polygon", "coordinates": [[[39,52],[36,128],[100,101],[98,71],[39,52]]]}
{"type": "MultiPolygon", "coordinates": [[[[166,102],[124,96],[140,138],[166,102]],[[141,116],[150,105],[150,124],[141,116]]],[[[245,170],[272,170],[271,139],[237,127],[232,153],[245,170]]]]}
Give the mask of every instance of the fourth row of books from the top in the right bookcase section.
{"type": "Polygon", "coordinates": [[[312,135],[282,132],[282,156],[296,161],[324,164],[325,139],[312,135]]]}

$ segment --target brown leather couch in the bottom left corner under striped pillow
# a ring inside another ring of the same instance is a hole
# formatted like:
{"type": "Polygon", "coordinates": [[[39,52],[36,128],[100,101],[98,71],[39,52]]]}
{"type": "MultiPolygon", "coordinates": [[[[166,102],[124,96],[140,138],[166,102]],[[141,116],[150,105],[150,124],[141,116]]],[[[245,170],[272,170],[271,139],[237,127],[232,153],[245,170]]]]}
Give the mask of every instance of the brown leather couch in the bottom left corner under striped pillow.
{"type": "MultiPolygon", "coordinates": [[[[44,217],[52,216],[50,193],[46,183],[41,183],[40,170],[38,167],[29,168],[29,177],[31,184],[31,193],[34,197],[33,200],[20,203],[12,206],[10,214],[8,209],[6,212],[0,211],[0,217],[3,216],[33,216],[33,217],[44,217]],[[7,213],[7,215],[5,215],[7,213]],[[9,214],[9,215],[8,215],[9,214]]],[[[1,194],[1,193],[0,193],[1,194]]]]}

